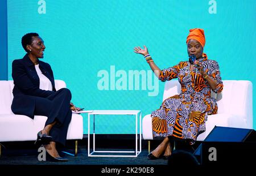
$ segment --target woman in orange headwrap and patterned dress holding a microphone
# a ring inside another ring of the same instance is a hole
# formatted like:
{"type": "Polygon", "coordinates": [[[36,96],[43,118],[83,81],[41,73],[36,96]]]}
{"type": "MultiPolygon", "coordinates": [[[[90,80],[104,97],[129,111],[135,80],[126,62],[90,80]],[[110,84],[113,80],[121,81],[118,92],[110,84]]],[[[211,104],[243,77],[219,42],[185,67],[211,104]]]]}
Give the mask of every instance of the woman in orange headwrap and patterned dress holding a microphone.
{"type": "Polygon", "coordinates": [[[210,97],[210,90],[220,93],[223,83],[218,63],[209,60],[203,53],[204,45],[204,30],[190,29],[187,37],[188,61],[163,70],[155,65],[146,46],[144,49],[139,46],[134,48],[135,53],[144,55],[161,81],[177,78],[181,84],[180,95],[167,98],[159,109],[151,113],[153,136],[164,137],[164,140],[148,154],[150,159],[158,159],[162,154],[167,159],[171,155],[170,138],[195,143],[197,136],[205,131],[207,116],[217,113],[217,102],[210,97]]]}

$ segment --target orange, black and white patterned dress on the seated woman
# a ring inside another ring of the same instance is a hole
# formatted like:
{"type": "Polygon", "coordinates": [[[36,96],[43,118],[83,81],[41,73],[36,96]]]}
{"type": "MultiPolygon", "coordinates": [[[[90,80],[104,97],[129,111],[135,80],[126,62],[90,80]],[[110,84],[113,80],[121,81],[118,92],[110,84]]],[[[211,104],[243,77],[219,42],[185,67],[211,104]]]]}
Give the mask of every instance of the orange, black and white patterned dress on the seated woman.
{"type": "MultiPolygon", "coordinates": [[[[207,74],[217,80],[213,91],[220,93],[223,83],[218,63],[208,60],[206,54],[203,54],[201,62],[207,74]]],[[[181,93],[167,98],[159,109],[151,113],[154,137],[173,136],[188,139],[193,144],[197,135],[205,131],[207,115],[217,113],[217,102],[210,97],[208,82],[196,69],[191,72],[190,66],[189,61],[184,61],[160,72],[161,81],[178,78],[181,93]]]]}

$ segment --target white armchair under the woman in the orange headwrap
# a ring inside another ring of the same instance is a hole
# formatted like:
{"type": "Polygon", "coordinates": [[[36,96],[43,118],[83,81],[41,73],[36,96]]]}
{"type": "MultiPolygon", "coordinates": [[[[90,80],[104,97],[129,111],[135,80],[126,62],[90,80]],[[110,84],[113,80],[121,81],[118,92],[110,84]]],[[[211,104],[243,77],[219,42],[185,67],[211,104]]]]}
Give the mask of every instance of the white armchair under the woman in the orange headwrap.
{"type": "MultiPolygon", "coordinates": [[[[224,88],[221,93],[213,93],[218,105],[218,113],[208,115],[205,124],[206,131],[197,137],[197,141],[203,141],[212,131],[214,126],[253,128],[253,84],[247,80],[224,80],[224,88]]],[[[166,98],[181,92],[178,80],[167,81],[164,86],[163,101],[166,98]]],[[[142,119],[142,135],[144,140],[152,140],[151,114],[142,119]]],[[[150,151],[150,141],[148,141],[150,151]]]]}

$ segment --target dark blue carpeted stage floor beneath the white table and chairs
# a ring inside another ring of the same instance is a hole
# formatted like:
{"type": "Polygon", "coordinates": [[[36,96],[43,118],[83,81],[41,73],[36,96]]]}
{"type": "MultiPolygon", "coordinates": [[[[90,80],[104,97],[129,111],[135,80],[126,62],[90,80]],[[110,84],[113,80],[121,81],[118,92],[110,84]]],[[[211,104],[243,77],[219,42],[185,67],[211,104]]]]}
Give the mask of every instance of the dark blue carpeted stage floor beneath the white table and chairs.
{"type": "MultiPolygon", "coordinates": [[[[71,149],[65,150],[73,153],[71,149]]],[[[0,158],[1,165],[167,165],[167,160],[148,160],[147,150],[143,149],[138,157],[88,157],[87,149],[79,147],[77,156],[61,152],[60,155],[68,158],[68,162],[38,161],[36,149],[10,149],[3,152],[0,158]]]]}

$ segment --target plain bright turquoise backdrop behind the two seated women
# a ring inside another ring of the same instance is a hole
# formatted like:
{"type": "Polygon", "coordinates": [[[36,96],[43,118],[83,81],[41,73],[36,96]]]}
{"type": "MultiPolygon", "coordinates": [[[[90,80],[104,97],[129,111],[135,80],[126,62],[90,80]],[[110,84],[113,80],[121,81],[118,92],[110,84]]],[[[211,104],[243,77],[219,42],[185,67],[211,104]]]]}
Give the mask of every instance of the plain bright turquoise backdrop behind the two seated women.
{"type": "MultiPolygon", "coordinates": [[[[11,63],[25,54],[20,43],[22,36],[37,32],[46,45],[42,61],[52,66],[55,79],[67,83],[72,102],[85,109],[142,110],[142,117],[158,109],[164,83],[150,79],[153,78],[147,72],[150,67],[133,48],[146,45],[159,68],[174,66],[188,58],[185,40],[191,28],[204,29],[204,52],[219,63],[223,80],[250,80],[256,85],[254,0],[9,0],[7,3],[9,80],[11,63]],[[142,71],[140,79],[132,80],[129,70],[142,71]],[[143,79],[143,71],[147,79],[143,79]],[[147,85],[150,80],[155,91],[159,84],[154,96],[149,95],[153,92],[152,86],[147,85]],[[99,84],[105,89],[101,90],[99,84]]],[[[134,126],[130,117],[102,116],[97,119],[96,132],[133,134],[134,126]]]]}

